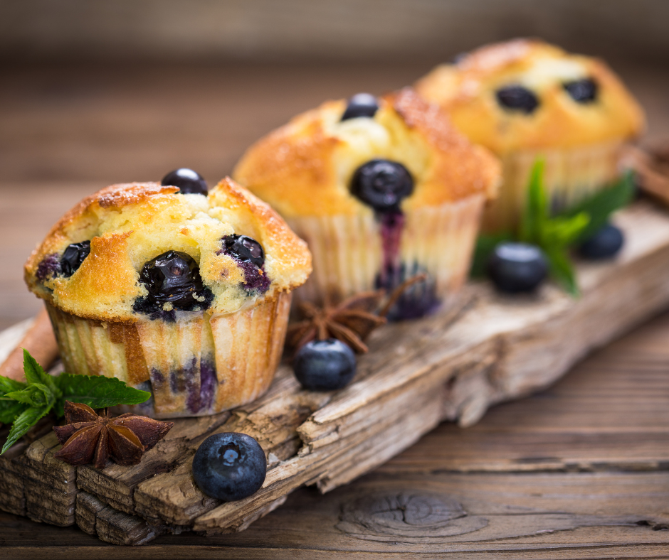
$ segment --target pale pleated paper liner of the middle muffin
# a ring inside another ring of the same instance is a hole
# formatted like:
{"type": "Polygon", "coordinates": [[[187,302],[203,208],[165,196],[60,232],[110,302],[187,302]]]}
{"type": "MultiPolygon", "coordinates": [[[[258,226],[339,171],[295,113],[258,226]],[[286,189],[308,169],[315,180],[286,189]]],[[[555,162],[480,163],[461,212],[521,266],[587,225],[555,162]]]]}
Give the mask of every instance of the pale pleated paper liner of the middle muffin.
{"type": "Polygon", "coordinates": [[[467,278],[484,200],[474,195],[410,210],[399,218],[399,227],[389,227],[385,217],[372,212],[288,220],[312,253],[313,272],[295,290],[296,301],[339,301],[379,287],[392,289],[426,273],[427,280],[400,299],[396,318],[421,316],[448,302],[467,278]],[[384,243],[399,244],[391,262],[384,243]]]}

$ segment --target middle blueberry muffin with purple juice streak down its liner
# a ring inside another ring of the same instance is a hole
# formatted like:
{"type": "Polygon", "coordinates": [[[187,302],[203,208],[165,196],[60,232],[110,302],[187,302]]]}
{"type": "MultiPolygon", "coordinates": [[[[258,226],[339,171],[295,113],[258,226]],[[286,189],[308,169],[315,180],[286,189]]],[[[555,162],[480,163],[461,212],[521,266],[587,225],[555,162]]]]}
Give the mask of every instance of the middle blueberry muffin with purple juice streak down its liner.
{"type": "Polygon", "coordinates": [[[406,89],[300,114],[251,146],[233,176],[309,245],[314,272],[297,298],[334,303],[424,273],[391,312],[412,318],[463,284],[499,164],[406,89]]]}

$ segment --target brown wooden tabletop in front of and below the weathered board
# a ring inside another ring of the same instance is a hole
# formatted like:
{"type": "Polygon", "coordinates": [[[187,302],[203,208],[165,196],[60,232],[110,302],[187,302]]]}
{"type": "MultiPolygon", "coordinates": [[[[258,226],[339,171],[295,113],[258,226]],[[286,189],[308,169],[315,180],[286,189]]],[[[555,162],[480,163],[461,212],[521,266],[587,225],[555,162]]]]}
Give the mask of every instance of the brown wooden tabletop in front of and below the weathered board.
{"type": "Polygon", "coordinates": [[[666,558],[668,339],[664,315],[473,427],[442,424],[325,496],[296,490],[245,532],[128,548],[2,513],[0,544],[54,560],[666,558]]]}

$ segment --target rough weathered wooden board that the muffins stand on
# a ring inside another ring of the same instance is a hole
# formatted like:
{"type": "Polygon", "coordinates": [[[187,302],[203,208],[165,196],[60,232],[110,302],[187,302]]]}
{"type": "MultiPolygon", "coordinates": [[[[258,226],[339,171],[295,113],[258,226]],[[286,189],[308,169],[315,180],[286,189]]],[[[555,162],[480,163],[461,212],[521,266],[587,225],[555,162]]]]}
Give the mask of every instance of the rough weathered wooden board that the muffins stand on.
{"type": "MultiPolygon", "coordinates": [[[[623,252],[613,262],[579,263],[580,298],[554,286],[515,298],[486,284],[469,286],[448,313],[377,330],[342,391],[305,391],[283,365],[256,402],[176,421],[139,465],[96,470],[58,461],[55,434],[43,426],[0,458],[0,508],[77,524],[116,544],[144,544],[168,532],[238,532],[295,488],[327,492],[348,483],[443,420],[471,426],[491,404],[546,387],[592,349],[669,306],[669,217],[642,201],[616,222],[626,235],[623,252]],[[268,457],[263,488],[246,500],[222,503],[194,485],[192,456],[219,431],[253,436],[268,457]]],[[[0,335],[0,352],[25,327],[0,335]]]]}

